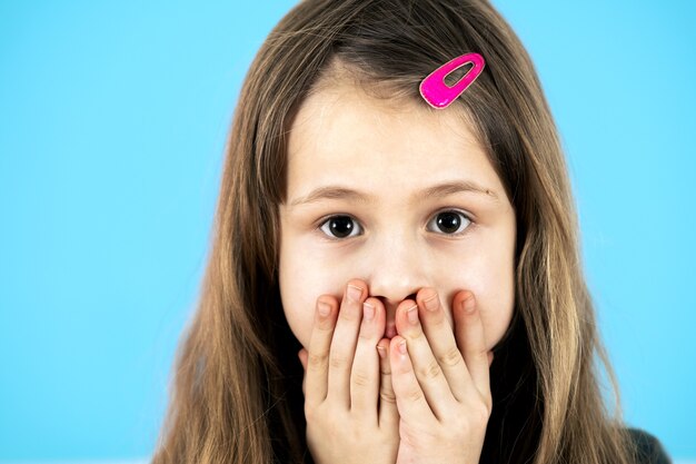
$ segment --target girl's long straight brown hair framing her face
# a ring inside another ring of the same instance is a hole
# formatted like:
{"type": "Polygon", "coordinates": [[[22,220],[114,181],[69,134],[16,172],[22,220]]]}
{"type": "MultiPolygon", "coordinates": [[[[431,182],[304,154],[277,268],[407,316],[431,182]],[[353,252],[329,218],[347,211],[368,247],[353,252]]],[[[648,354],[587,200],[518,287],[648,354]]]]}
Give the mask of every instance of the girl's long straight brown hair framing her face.
{"type": "MultiPolygon", "coordinates": [[[[348,69],[382,96],[426,105],[418,83],[464,52],[486,69],[459,99],[517,217],[516,307],[491,366],[481,462],[627,463],[607,411],[578,225],[534,66],[483,0],[306,0],[271,31],[236,109],[198,310],[180,345],[153,462],[310,462],[300,348],[278,290],[278,205],[299,103],[348,69]]],[[[612,383],[614,385],[614,383],[612,383]]],[[[616,392],[616,388],[614,387],[616,392]]]]}

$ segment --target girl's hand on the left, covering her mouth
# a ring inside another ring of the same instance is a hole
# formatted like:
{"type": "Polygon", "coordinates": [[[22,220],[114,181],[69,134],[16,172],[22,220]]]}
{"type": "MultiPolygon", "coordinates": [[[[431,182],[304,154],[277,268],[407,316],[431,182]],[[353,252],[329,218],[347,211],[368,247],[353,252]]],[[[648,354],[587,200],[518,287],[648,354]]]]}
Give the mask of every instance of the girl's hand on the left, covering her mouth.
{"type": "Polygon", "coordinates": [[[336,298],[320,296],[308,351],[299,353],[307,444],[318,464],[396,462],[399,416],[389,344],[380,340],[386,314],[379,299],[366,298],[365,283],[351,280],[337,315],[336,298]]]}

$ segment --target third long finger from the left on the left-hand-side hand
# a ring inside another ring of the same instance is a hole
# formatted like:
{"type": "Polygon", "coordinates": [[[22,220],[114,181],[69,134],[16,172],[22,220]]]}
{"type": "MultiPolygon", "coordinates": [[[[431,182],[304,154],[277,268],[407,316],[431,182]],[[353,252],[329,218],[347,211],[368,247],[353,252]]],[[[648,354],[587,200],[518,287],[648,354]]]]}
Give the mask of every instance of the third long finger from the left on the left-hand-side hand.
{"type": "Polygon", "coordinates": [[[350,411],[377,423],[379,408],[379,355],[377,343],[385,333],[385,308],[377,298],[362,304],[362,322],[350,372],[350,411]]]}

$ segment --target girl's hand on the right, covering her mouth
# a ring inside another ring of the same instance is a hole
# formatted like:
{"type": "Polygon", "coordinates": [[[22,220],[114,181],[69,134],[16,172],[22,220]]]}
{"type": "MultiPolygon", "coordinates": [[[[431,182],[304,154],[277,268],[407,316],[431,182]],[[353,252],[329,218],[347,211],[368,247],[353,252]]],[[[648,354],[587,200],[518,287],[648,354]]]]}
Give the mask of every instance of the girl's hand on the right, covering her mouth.
{"type": "Polygon", "coordinates": [[[455,334],[437,293],[397,308],[392,385],[400,415],[397,463],[478,463],[491,396],[484,327],[474,295],[455,296],[455,334]],[[421,325],[422,322],[422,325],[421,325]]]}

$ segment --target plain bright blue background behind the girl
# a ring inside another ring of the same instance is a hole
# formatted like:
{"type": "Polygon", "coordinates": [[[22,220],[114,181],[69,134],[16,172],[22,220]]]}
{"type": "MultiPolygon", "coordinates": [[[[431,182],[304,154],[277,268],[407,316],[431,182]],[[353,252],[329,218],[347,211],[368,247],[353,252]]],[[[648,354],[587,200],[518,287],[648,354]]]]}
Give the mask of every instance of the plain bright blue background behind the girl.
{"type": "MultiPolygon", "coordinates": [[[[152,453],[241,79],[292,4],[0,0],[0,461],[152,453]]],[[[561,132],[625,417],[696,458],[694,3],[495,4],[561,132]]]]}

